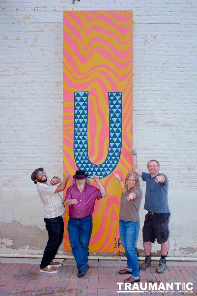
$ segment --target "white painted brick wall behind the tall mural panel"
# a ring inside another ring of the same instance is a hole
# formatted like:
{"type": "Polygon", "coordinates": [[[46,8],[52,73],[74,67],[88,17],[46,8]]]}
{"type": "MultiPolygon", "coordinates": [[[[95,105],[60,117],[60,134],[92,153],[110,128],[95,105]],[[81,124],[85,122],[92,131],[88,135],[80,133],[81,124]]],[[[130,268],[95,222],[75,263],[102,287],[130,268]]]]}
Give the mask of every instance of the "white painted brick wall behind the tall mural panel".
{"type": "MultiPolygon", "coordinates": [[[[147,161],[156,158],[169,178],[170,255],[197,257],[196,227],[188,228],[197,224],[197,2],[191,0],[0,3],[1,221],[43,228],[30,174],[40,165],[62,174],[63,11],[125,9],[133,10],[138,164],[146,170],[147,161]],[[30,199],[30,220],[24,215],[29,209],[15,204],[21,196],[30,199]],[[180,249],[185,247],[196,251],[186,254],[180,249]]],[[[141,227],[144,213],[141,206],[141,227]]],[[[2,247],[2,252],[13,250],[2,247]]]]}

